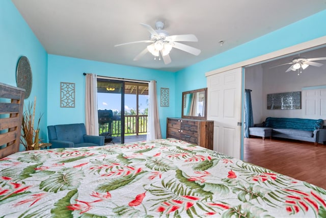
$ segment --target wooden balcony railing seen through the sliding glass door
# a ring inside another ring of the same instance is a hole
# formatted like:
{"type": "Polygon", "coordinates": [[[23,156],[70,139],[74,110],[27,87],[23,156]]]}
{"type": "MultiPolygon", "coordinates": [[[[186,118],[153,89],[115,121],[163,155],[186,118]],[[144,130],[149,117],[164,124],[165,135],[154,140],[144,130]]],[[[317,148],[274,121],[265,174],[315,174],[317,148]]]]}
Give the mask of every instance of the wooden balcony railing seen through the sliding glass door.
{"type": "MultiPolygon", "coordinates": [[[[125,115],[124,134],[138,135],[147,133],[147,115],[125,115]]],[[[113,116],[107,123],[99,124],[99,133],[108,133],[112,136],[121,135],[121,117],[113,116]]]]}

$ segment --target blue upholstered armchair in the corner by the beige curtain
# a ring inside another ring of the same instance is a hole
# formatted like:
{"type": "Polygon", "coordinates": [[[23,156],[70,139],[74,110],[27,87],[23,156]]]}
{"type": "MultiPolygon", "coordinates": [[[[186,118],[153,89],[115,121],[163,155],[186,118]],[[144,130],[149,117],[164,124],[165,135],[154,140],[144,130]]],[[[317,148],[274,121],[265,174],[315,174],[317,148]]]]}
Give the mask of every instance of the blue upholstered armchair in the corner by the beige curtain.
{"type": "Polygon", "coordinates": [[[103,146],[104,136],[86,135],[84,124],[48,126],[47,133],[51,148],[76,148],[103,146]]]}

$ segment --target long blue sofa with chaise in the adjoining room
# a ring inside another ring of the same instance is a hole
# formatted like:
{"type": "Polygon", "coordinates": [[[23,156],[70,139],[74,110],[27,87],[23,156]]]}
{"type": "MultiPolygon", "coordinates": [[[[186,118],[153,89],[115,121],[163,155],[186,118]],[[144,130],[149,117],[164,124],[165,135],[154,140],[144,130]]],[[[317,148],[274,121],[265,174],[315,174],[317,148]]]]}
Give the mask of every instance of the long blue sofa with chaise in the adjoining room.
{"type": "Polygon", "coordinates": [[[249,135],[288,138],[318,143],[326,141],[322,119],[267,117],[265,122],[249,128],[249,135]]]}

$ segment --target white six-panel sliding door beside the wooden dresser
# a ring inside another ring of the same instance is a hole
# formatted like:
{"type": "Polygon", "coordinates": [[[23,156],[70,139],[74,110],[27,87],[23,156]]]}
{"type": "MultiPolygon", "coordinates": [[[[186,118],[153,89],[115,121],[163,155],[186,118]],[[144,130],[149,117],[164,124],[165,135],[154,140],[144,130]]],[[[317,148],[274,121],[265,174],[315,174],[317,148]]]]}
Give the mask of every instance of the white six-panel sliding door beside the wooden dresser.
{"type": "Polygon", "coordinates": [[[241,71],[240,67],[207,77],[207,119],[214,120],[213,150],[239,159],[241,71]]]}

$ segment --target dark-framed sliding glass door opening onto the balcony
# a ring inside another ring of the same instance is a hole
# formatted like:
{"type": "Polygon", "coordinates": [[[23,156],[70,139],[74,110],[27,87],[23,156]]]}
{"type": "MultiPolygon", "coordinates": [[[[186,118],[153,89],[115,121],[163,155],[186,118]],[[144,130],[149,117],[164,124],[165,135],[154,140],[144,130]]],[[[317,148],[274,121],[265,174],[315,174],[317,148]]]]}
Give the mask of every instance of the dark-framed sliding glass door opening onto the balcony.
{"type": "Polygon", "coordinates": [[[148,83],[97,79],[99,134],[105,144],[146,140],[148,83]]]}

